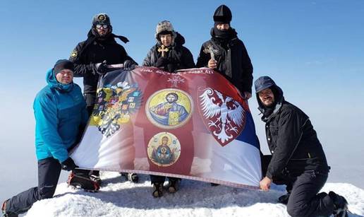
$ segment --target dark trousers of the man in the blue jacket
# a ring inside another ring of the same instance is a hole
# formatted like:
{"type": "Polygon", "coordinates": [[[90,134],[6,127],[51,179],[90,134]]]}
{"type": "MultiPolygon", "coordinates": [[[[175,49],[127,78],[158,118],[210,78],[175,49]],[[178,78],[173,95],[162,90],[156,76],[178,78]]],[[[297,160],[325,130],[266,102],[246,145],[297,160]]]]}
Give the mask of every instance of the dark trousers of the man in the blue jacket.
{"type": "Polygon", "coordinates": [[[38,161],[38,186],[12,197],[6,203],[6,212],[24,213],[32,204],[41,199],[53,197],[56,191],[61,164],[54,158],[46,158],[38,161]]]}

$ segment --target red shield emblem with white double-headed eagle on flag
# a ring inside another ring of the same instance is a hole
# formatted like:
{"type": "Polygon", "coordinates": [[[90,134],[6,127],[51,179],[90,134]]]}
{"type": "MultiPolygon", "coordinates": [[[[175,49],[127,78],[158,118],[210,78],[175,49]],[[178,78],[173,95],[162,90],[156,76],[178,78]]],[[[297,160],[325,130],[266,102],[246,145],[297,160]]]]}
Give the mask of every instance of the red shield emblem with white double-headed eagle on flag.
{"type": "Polygon", "coordinates": [[[248,105],[244,100],[234,100],[218,90],[206,88],[198,90],[198,108],[205,126],[221,146],[236,139],[245,127],[248,105]]]}

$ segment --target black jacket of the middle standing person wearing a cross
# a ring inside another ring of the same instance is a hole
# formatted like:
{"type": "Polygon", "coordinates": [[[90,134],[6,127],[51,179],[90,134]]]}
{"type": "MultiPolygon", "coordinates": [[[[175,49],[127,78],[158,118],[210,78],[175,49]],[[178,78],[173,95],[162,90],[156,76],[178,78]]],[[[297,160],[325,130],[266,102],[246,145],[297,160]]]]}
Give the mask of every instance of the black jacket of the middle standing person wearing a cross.
{"type": "MultiPolygon", "coordinates": [[[[193,61],[193,55],[190,50],[183,45],[185,44],[185,38],[176,33],[176,38],[174,39],[174,45],[169,47],[166,58],[169,60],[169,68],[171,72],[178,69],[191,69],[195,68],[195,62],[193,61]],[[173,65],[173,66],[171,66],[173,65]]],[[[161,52],[158,52],[158,48],[162,46],[162,43],[157,41],[150,51],[147,53],[142,62],[142,66],[157,66],[157,60],[162,56],[161,52]]],[[[165,67],[164,70],[169,70],[165,67]]]]}

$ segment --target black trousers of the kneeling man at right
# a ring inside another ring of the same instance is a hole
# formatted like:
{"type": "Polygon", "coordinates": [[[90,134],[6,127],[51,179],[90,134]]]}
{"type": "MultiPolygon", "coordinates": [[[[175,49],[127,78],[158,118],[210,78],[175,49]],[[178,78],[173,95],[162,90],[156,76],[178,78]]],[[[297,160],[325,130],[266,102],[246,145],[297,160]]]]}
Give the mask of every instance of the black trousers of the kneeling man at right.
{"type": "MultiPolygon", "coordinates": [[[[262,156],[262,171],[267,171],[269,161],[269,156],[262,156]]],[[[291,192],[287,204],[290,216],[329,216],[333,213],[334,204],[329,195],[325,192],[317,194],[327,176],[328,172],[307,170],[296,175],[287,172],[273,177],[274,184],[286,184],[287,191],[291,192]]]]}

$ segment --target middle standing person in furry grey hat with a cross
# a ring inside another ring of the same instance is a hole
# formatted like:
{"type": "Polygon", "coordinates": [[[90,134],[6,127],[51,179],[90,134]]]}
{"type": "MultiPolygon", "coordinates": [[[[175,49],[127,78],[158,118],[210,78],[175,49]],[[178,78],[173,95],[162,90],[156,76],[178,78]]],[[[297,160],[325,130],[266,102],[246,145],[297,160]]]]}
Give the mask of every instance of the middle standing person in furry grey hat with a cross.
{"type": "MultiPolygon", "coordinates": [[[[164,71],[174,72],[178,69],[190,69],[195,67],[193,55],[190,50],[183,47],[185,43],[184,37],[175,32],[173,25],[163,20],[157,24],[155,38],[157,44],[154,45],[142,62],[142,66],[154,66],[163,69],[164,71]]],[[[178,191],[179,182],[181,179],[168,177],[168,191],[174,193],[178,191]]],[[[166,177],[158,175],[150,175],[150,180],[153,184],[153,197],[162,197],[163,183],[166,177]]]]}

